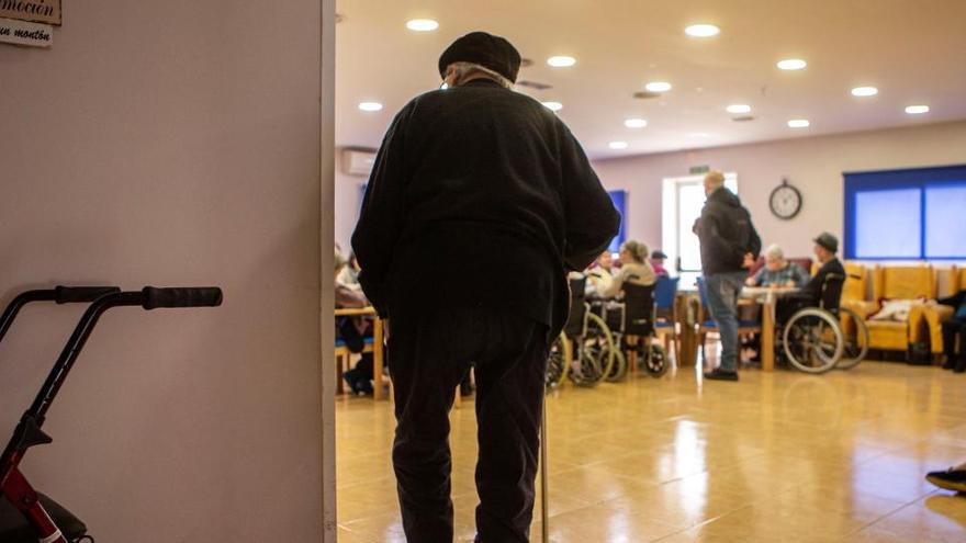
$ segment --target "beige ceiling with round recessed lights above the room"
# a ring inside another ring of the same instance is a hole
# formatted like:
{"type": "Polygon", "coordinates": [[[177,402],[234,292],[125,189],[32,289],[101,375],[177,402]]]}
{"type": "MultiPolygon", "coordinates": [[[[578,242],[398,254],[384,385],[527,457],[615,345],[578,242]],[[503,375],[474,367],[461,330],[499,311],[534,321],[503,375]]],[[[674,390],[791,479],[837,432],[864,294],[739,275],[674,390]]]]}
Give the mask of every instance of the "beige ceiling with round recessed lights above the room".
{"type": "Polygon", "coordinates": [[[510,39],[533,60],[518,88],[563,103],[561,118],[595,159],[966,118],[964,0],[338,0],[336,143],[378,147],[396,111],[436,89],[439,54],[475,30],[510,39]],[[439,30],[415,33],[411,19],[439,30]],[[711,23],[711,38],[684,27],[711,23]],[[571,68],[547,58],[569,55],[571,68]],[[802,58],[801,71],[782,71],[802,58]],[[649,81],[659,98],[634,99],[649,81]],[[860,99],[850,90],[874,86],[860,99]],[[377,101],[385,109],[359,111],[377,101]],[[729,104],[752,106],[734,122],[729,104]],[[908,115],[907,105],[930,113],[908,115]],[[648,126],[627,128],[626,118],[648,126]],[[808,128],[789,128],[807,118],[808,128]],[[613,150],[610,142],[627,142],[613,150]]]}

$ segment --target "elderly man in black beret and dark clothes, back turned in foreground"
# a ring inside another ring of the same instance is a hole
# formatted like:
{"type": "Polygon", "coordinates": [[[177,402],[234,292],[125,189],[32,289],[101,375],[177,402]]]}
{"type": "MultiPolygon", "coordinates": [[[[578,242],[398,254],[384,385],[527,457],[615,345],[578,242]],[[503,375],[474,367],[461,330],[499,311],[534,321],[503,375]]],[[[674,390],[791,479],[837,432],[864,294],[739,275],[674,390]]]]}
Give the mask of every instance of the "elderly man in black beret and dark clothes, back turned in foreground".
{"type": "Polygon", "coordinates": [[[448,412],[471,362],[478,541],[528,541],[566,270],[586,268],[619,226],[566,126],[512,90],[519,66],[509,42],[482,32],[442,54],[448,89],[396,115],[352,236],[362,287],[391,318],[393,464],[413,543],[452,541],[448,412]]]}

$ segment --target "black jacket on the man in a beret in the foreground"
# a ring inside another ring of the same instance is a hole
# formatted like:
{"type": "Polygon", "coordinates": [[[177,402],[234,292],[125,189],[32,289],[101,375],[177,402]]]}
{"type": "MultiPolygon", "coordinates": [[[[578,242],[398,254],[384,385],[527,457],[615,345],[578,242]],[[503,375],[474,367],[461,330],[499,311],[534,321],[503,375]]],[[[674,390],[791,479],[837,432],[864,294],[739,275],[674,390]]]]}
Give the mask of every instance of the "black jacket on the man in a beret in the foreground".
{"type": "Polygon", "coordinates": [[[413,100],[385,135],[352,235],[383,316],[434,307],[566,319],[620,217],[580,144],[536,100],[490,80],[413,100]]]}

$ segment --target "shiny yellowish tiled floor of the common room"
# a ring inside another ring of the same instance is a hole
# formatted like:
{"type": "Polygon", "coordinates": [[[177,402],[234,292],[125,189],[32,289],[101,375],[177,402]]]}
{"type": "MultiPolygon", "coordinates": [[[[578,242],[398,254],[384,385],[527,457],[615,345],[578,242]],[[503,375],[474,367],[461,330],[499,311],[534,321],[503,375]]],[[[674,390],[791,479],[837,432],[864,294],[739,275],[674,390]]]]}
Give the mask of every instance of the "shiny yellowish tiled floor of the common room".
{"type": "MultiPolygon", "coordinates": [[[[551,541],[966,542],[966,497],[922,478],[966,461],[966,375],[867,362],[741,378],[701,384],[688,369],[548,397],[551,541]]],[[[337,414],[339,541],[405,541],[391,405],[341,398],[337,414]]],[[[452,419],[467,542],[472,403],[452,419]]]]}

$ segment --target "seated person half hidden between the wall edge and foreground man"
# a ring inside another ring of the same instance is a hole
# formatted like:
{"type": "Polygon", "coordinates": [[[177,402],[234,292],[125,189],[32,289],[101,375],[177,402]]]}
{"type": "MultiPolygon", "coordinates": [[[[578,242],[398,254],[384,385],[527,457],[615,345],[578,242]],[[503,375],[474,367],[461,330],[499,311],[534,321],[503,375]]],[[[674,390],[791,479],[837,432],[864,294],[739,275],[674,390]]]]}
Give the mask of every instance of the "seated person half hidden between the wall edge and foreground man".
{"type": "MultiPolygon", "coordinates": [[[[347,286],[339,281],[339,274],[346,267],[346,259],[335,253],[335,289],[336,308],[362,308],[369,305],[366,295],[358,289],[347,286]]],[[[357,395],[372,394],[372,353],[362,352],[366,339],[372,337],[372,320],[366,317],[336,317],[336,338],[346,342],[350,352],[361,353],[362,359],[356,367],[342,374],[342,378],[357,395]]]]}

